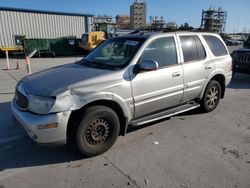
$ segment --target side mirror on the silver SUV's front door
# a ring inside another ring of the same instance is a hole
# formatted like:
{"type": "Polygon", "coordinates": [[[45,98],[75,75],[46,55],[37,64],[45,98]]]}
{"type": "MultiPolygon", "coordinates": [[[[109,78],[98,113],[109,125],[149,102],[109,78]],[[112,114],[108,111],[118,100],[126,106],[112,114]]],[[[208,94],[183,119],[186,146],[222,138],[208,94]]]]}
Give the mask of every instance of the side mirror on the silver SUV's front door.
{"type": "Polygon", "coordinates": [[[159,64],[155,60],[143,60],[141,63],[136,64],[134,67],[134,74],[138,74],[141,72],[149,72],[157,70],[159,67],[159,64]]]}

